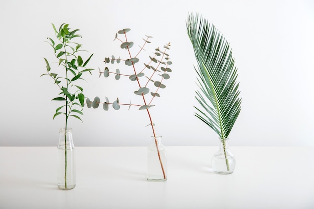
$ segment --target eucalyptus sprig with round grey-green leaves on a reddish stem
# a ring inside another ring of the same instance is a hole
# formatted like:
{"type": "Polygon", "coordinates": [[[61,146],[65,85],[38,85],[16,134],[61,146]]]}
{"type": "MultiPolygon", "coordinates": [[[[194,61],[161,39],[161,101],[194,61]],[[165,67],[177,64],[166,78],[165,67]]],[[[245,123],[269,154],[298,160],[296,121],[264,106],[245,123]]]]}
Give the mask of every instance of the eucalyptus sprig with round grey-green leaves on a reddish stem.
{"type": "Polygon", "coordinates": [[[170,61],[170,57],[168,51],[170,50],[170,43],[163,46],[162,49],[156,48],[154,52],[147,56],[146,63],[142,63],[139,65],[139,54],[144,51],[144,47],[146,44],[150,44],[149,41],[152,37],[146,36],[143,38],[143,44],[139,46],[139,49],[135,51],[131,51],[130,49],[134,49],[134,43],[127,40],[126,33],[129,32],[130,29],[123,29],[116,33],[115,39],[120,42],[120,48],[126,51],[126,58],[116,58],[115,56],[106,57],[104,59],[105,64],[122,64],[123,70],[115,69],[111,70],[109,67],[105,67],[103,71],[99,69],[99,77],[103,75],[105,78],[109,77],[110,74],[115,76],[116,80],[119,80],[121,77],[127,77],[128,81],[136,82],[138,85],[137,89],[134,89],[132,93],[140,96],[142,98],[141,104],[132,104],[131,101],[129,103],[119,103],[119,99],[117,98],[112,103],[109,102],[109,99],[105,97],[104,102],[100,102],[99,97],[95,97],[93,101],[89,98],[86,99],[87,107],[98,108],[99,104],[103,104],[103,109],[108,110],[109,105],[112,105],[113,109],[120,109],[120,105],[127,105],[129,108],[131,106],[137,106],[139,110],[146,110],[149,124],[151,126],[153,136],[155,139],[155,145],[158,151],[159,160],[161,163],[161,168],[164,174],[164,178],[166,179],[166,173],[163,167],[163,162],[161,160],[158,143],[156,140],[156,133],[154,129],[154,123],[152,122],[152,117],[149,112],[149,108],[155,106],[152,104],[153,100],[156,97],[161,97],[160,90],[165,89],[166,85],[164,84],[165,80],[170,79],[169,73],[172,72],[172,69],[169,65],[172,64],[170,61]],[[120,38],[122,36],[122,38],[120,38]]]}

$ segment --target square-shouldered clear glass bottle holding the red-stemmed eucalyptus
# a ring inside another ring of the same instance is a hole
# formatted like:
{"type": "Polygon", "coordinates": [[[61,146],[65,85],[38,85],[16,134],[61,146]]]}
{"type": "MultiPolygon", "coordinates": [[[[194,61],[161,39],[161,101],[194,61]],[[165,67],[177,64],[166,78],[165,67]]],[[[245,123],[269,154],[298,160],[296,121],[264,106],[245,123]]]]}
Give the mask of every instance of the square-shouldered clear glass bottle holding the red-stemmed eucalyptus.
{"type": "Polygon", "coordinates": [[[167,180],[167,154],[161,143],[162,136],[152,136],[152,143],[147,148],[147,180],[167,180]]]}

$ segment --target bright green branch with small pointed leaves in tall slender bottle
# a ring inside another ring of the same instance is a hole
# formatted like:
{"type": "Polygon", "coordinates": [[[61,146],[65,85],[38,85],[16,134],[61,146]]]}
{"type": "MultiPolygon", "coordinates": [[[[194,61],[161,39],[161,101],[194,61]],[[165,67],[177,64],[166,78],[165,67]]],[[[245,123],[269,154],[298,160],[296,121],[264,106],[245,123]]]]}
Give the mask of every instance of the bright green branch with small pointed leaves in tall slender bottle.
{"type": "MultiPolygon", "coordinates": [[[[59,96],[53,98],[54,101],[63,101],[64,104],[56,109],[56,113],[53,115],[53,119],[58,115],[65,116],[65,131],[68,129],[69,117],[74,117],[82,121],[79,115],[83,115],[82,106],[84,105],[85,96],[83,94],[83,88],[77,85],[77,81],[84,80],[83,74],[90,73],[93,69],[87,68],[86,65],[90,61],[93,54],[91,54],[85,61],[83,60],[81,53],[82,45],[77,42],[73,42],[75,38],[81,38],[81,35],[77,34],[79,29],[71,31],[69,24],[62,24],[57,31],[54,24],[52,27],[57,39],[48,38],[47,41],[54,50],[54,55],[58,61],[58,69],[52,72],[50,64],[46,58],[46,71],[47,73],[41,75],[48,75],[54,80],[54,84],[59,88],[59,96]],[[60,70],[60,68],[62,70],[60,70]]],[[[67,189],[67,138],[66,133],[64,135],[65,141],[65,173],[64,182],[65,189],[67,189]]]]}

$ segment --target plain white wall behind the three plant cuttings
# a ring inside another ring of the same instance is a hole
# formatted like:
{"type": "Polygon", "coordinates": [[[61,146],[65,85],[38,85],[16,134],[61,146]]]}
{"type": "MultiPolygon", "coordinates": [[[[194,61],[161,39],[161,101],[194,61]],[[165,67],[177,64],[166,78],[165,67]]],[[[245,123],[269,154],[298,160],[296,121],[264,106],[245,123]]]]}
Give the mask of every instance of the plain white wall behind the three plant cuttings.
{"type": "MultiPolygon", "coordinates": [[[[90,67],[103,68],[104,57],[122,54],[115,33],[130,28],[151,49],[171,42],[172,78],[151,108],[156,131],[166,145],[217,145],[217,135],[194,116],[196,64],[186,33],[189,12],[203,15],[228,39],[238,67],[242,110],[230,145],[313,146],[314,2],[295,1],[96,1],[3,0],[0,2],[0,145],[55,146],[61,117],[52,120],[58,90],[45,73],[43,57],[53,61],[51,23],[81,29],[84,49],[94,53],[90,67]]],[[[136,44],[137,43],[137,44],[136,44]]],[[[147,52],[148,49],[147,49],[147,52]]],[[[122,56],[122,55],[121,55],[122,56]]],[[[127,83],[113,76],[84,84],[88,97],[119,97],[128,102],[127,83]],[[120,85],[120,86],[119,86],[120,85]],[[124,88],[121,88],[121,86],[124,88]],[[125,87],[126,86],[126,87],[125,87]]],[[[125,79],[126,82],[129,82],[125,79]]],[[[151,130],[137,108],[84,109],[84,124],[71,120],[76,146],[146,146],[151,130]]]]}

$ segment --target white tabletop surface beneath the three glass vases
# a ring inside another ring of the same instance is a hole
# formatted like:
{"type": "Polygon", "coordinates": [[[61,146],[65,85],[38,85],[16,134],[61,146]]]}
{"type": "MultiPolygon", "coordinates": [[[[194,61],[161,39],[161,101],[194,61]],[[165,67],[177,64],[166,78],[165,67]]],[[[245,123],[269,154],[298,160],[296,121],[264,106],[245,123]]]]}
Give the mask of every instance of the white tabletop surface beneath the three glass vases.
{"type": "Polygon", "coordinates": [[[314,208],[314,147],[229,147],[229,175],[211,169],[218,147],[166,150],[168,180],[148,182],[146,147],[76,147],[76,187],[65,191],[56,147],[0,147],[0,208],[314,208]]]}

